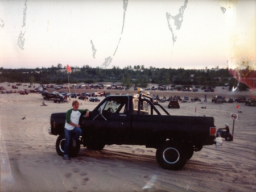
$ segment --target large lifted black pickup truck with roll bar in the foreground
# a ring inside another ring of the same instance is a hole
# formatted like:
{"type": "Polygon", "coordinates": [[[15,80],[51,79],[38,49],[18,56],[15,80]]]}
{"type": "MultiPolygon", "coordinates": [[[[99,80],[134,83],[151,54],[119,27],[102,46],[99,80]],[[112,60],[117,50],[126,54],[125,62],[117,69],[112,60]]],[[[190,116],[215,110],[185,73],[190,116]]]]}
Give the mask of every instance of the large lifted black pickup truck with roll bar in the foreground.
{"type": "MultiPolygon", "coordinates": [[[[51,115],[48,133],[59,135],[57,154],[64,154],[65,112],[51,115]]],[[[76,157],[80,146],[101,150],[105,145],[145,145],[156,149],[156,161],[164,169],[178,170],[204,145],[216,144],[214,118],[209,116],[170,115],[152,97],[140,95],[110,95],[89,117],[81,115],[82,135],[70,157],[76,157]],[[160,112],[166,113],[162,115],[160,112]]]]}

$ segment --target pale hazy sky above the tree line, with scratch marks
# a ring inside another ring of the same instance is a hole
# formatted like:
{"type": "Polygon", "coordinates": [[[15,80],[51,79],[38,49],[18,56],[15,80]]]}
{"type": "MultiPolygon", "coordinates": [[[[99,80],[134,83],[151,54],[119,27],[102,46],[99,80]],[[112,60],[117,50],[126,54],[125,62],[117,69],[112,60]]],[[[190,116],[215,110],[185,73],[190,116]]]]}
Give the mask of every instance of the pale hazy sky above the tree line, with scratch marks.
{"type": "Polygon", "coordinates": [[[3,68],[256,66],[254,0],[2,0],[0,11],[3,68]]]}

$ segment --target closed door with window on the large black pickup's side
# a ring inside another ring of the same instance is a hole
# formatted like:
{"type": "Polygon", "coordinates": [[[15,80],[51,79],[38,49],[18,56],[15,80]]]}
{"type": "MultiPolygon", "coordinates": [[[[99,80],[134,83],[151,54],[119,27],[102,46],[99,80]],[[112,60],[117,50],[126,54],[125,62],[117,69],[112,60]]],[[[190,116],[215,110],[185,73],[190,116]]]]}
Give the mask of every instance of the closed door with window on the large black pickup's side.
{"type": "Polygon", "coordinates": [[[95,141],[118,144],[129,138],[129,97],[112,96],[93,111],[89,134],[95,141]]]}

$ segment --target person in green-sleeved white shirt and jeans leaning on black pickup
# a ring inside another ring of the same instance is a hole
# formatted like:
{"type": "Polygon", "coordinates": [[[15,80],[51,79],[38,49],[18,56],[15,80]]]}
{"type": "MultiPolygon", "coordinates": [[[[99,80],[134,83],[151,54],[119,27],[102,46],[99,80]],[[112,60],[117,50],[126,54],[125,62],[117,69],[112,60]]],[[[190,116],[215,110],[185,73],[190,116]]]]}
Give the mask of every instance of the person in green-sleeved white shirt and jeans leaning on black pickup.
{"type": "Polygon", "coordinates": [[[89,116],[89,110],[80,110],[79,109],[79,102],[73,101],[72,107],[66,112],[66,122],[65,122],[65,147],[64,147],[64,160],[71,160],[68,157],[69,154],[69,144],[71,141],[71,135],[72,133],[75,133],[75,136],[73,137],[73,147],[76,147],[76,141],[79,139],[79,136],[82,133],[82,130],[79,125],[79,119],[82,114],[85,114],[86,117],[89,116]]]}

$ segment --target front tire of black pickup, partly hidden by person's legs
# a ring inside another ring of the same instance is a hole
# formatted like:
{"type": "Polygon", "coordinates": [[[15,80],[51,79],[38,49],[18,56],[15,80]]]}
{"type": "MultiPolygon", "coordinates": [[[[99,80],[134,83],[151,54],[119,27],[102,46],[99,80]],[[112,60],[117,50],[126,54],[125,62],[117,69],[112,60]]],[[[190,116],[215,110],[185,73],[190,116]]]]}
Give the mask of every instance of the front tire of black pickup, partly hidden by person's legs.
{"type": "MultiPolygon", "coordinates": [[[[61,134],[57,137],[56,140],[56,152],[59,156],[64,156],[64,147],[65,147],[65,135],[61,134]]],[[[80,140],[76,141],[76,147],[70,146],[69,157],[76,157],[80,151],[80,140]]]]}

